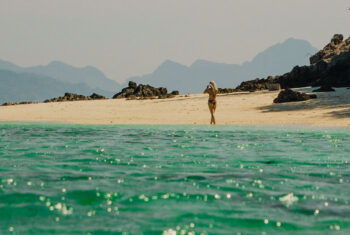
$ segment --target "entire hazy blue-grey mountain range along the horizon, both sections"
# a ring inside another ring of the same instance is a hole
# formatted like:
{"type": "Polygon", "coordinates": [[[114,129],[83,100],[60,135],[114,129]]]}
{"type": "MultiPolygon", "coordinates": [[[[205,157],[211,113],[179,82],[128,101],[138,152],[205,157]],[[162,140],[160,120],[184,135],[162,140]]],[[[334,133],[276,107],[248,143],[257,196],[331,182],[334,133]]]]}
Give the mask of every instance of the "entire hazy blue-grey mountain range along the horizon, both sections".
{"type": "MultiPolygon", "coordinates": [[[[233,88],[256,77],[279,75],[295,65],[309,64],[310,55],[317,49],[304,40],[288,39],[259,53],[250,62],[241,65],[197,60],[185,66],[170,60],[162,63],[153,73],[129,78],[137,83],[166,87],[169,91],[198,93],[210,80],[219,87],[233,88]]],[[[97,68],[77,68],[53,61],[45,66],[21,67],[0,60],[0,103],[18,101],[43,101],[74,92],[91,95],[96,92],[111,97],[126,87],[107,78],[97,68]]]]}

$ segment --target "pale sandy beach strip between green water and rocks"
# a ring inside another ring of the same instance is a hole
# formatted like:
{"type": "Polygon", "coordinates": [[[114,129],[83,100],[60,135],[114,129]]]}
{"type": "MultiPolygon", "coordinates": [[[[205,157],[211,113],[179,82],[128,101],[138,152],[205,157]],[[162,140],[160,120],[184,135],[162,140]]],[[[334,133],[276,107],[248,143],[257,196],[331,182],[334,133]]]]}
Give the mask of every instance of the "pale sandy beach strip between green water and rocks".
{"type": "MultiPolygon", "coordinates": [[[[311,88],[297,90],[310,91],[311,88]]],[[[303,102],[273,104],[278,92],[222,94],[217,124],[350,126],[350,90],[316,93],[303,102]]],[[[0,121],[74,124],[209,124],[208,96],[172,99],[73,101],[1,106],[0,121]]]]}

